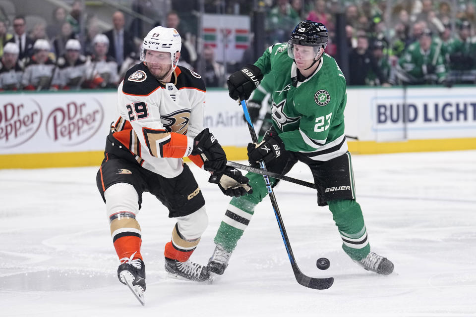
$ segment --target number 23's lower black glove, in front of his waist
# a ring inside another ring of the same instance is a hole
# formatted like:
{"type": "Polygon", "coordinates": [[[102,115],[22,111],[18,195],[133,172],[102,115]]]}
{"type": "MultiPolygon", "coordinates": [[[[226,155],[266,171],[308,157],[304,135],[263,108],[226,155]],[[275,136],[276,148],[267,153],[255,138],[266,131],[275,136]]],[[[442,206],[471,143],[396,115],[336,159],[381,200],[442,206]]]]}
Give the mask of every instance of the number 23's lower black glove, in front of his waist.
{"type": "Polygon", "coordinates": [[[285,152],[283,140],[275,131],[269,130],[261,143],[248,144],[248,161],[251,165],[261,160],[268,163],[278,159],[285,152]]]}

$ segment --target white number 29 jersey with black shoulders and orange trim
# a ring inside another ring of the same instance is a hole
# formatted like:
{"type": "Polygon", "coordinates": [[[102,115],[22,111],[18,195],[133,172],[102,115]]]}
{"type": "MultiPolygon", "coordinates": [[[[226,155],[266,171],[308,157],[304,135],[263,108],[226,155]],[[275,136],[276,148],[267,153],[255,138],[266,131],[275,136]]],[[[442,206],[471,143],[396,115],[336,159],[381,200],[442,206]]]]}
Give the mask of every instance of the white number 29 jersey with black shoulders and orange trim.
{"type": "MultiPolygon", "coordinates": [[[[133,157],[152,172],[178,176],[182,158],[190,156],[193,138],[203,130],[205,92],[200,75],[185,67],[177,66],[172,82],[164,84],[144,63],[133,66],[118,88],[120,117],[108,137],[109,143],[116,144],[107,145],[106,152],[114,149],[114,155],[133,157]]],[[[200,156],[190,159],[202,167],[200,156]]]]}

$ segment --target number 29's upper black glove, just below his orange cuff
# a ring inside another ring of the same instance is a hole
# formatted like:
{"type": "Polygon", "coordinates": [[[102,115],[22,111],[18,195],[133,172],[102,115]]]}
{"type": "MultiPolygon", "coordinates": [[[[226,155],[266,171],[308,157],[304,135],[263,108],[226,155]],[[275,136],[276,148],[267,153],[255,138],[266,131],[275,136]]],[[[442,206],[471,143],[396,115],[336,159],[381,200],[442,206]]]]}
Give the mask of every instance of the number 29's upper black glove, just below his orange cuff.
{"type": "Polygon", "coordinates": [[[200,155],[203,168],[209,171],[222,171],[227,166],[227,155],[215,136],[206,128],[193,139],[195,146],[192,155],[200,155]]]}

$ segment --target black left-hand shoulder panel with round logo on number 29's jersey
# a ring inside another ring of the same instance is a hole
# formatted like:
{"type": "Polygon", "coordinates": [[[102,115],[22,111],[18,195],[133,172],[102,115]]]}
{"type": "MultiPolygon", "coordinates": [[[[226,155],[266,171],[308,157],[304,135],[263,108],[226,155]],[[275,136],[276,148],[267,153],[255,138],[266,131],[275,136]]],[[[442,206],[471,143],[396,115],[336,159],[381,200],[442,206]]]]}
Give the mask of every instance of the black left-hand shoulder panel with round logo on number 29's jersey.
{"type": "Polygon", "coordinates": [[[144,63],[139,63],[125,73],[122,92],[127,95],[148,96],[160,86],[144,63]]]}

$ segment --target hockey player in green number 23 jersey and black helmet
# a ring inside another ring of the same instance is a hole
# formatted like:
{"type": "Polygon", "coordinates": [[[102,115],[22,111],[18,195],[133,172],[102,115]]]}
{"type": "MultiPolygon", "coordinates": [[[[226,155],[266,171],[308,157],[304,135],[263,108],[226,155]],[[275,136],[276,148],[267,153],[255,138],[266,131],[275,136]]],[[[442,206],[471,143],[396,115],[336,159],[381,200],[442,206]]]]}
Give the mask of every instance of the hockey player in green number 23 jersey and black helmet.
{"type": "MultiPolygon", "coordinates": [[[[287,44],[271,46],[254,63],[228,80],[230,97],[246,100],[264,75],[272,72],[273,128],[263,141],[248,145],[251,164],[286,174],[301,161],[317,185],[317,203],[329,206],[343,240],[342,248],[365,269],[390,274],[394,265],[370,252],[362,211],[356,201],[351,155],[344,134],[346,80],[334,58],[324,54],[327,29],[322,23],[300,22],[287,44]]],[[[268,194],[263,177],[248,173],[252,194],[234,197],[227,207],[207,268],[223,274],[232,252],[254,213],[268,194]]],[[[278,180],[269,178],[274,186],[278,180]]]]}

